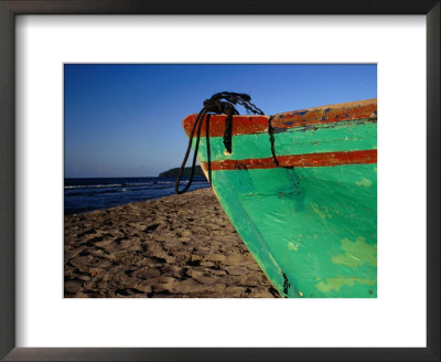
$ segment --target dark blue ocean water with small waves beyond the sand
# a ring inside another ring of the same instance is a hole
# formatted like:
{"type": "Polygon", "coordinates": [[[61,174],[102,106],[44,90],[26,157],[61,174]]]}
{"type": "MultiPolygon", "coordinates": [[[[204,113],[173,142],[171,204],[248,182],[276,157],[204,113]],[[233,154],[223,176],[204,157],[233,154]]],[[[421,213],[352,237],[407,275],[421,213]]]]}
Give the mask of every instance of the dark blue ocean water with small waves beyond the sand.
{"type": "MultiPolygon", "coordinates": [[[[64,179],[64,214],[72,215],[174,194],[175,178],[64,179]]],[[[181,190],[189,182],[182,178],[181,190]]],[[[189,191],[208,188],[195,177],[189,191]]]]}

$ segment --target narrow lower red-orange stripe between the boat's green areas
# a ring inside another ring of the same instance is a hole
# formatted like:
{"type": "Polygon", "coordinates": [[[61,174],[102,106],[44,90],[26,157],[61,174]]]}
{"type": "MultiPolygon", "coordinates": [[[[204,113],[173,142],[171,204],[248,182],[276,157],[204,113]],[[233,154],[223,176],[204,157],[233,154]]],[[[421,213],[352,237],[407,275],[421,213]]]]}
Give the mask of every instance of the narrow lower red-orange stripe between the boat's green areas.
{"type": "MultiPolygon", "coordinates": [[[[308,155],[278,156],[280,167],[326,167],[357,163],[377,163],[377,150],[348,151],[348,152],[323,152],[308,155]]],[[[202,162],[205,170],[208,162],[202,162]]],[[[245,160],[212,161],[212,171],[222,170],[250,170],[272,169],[278,166],[272,157],[245,160]]]]}

